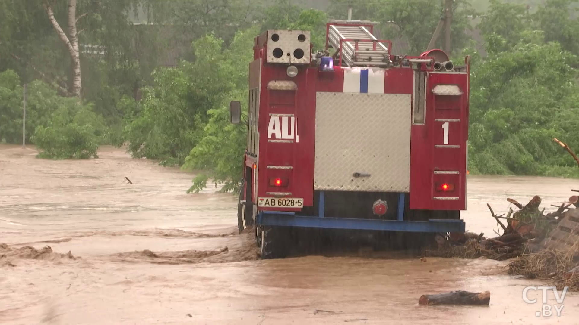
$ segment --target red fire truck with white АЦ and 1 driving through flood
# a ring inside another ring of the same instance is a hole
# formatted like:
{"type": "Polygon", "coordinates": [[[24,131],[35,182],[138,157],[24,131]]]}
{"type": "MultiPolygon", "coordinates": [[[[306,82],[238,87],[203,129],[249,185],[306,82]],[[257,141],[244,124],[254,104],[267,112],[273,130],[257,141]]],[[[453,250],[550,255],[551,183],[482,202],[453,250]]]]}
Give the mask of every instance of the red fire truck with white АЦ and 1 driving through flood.
{"type": "Polygon", "coordinates": [[[470,60],[391,47],[369,21],[331,21],[317,52],[308,31],[256,36],[238,219],[262,258],[296,227],[464,231],[470,60]]]}

